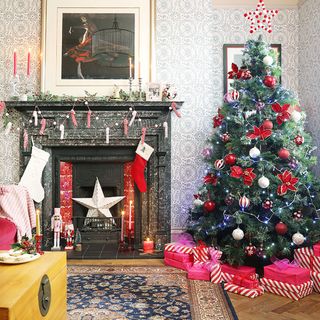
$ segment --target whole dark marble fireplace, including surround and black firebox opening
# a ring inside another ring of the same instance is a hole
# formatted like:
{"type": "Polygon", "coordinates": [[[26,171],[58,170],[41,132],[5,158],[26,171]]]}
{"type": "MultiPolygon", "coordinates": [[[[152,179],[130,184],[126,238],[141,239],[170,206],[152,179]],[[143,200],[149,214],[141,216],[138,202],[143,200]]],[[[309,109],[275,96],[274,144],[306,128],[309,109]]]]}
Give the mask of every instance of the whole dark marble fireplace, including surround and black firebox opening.
{"type": "MultiPolygon", "coordinates": [[[[181,105],[181,103],[177,104],[178,107],[181,105]]],[[[85,125],[88,106],[83,102],[76,104],[69,102],[7,103],[7,106],[21,112],[22,121],[29,136],[33,137],[34,144],[51,155],[42,176],[45,189],[45,199],[41,204],[44,249],[50,250],[52,246],[53,208],[63,207],[61,163],[72,166],[72,188],[69,190],[72,191],[71,197],[91,198],[96,177],[99,178],[105,197],[122,196],[127,192],[125,176],[130,172],[128,168],[134,160],[142,125],[147,127],[145,142],[154,148],[154,153],[147,162],[145,172],[147,192],[140,193],[136,187],[132,187],[133,190],[131,190],[134,207],[134,248],[140,249],[142,241],[147,237],[162,245],[169,242],[171,236],[171,104],[167,102],[91,102],[89,105],[93,113],[90,129],[85,125]],[[44,135],[40,135],[39,127],[35,127],[29,121],[32,119],[35,106],[41,111],[41,117],[47,120],[44,135]],[[68,117],[72,108],[76,110],[78,127],[74,127],[68,117]],[[137,111],[137,119],[129,128],[129,135],[125,136],[122,121],[128,115],[130,120],[132,110],[137,111]],[[164,122],[168,123],[168,138],[165,137],[162,127],[164,122]],[[64,139],[60,137],[58,127],[60,123],[65,124],[64,139]],[[110,141],[106,143],[106,124],[109,123],[113,123],[113,126],[110,141]]],[[[29,145],[29,150],[23,151],[21,146],[21,174],[29,160],[30,149],[29,145]]],[[[96,248],[97,246],[114,248],[119,241],[119,217],[123,208],[127,210],[125,200],[112,208],[111,213],[115,220],[110,230],[99,230],[101,221],[93,221],[92,225],[96,225],[96,229],[86,234],[83,227],[87,209],[73,202],[71,211],[67,208],[66,212],[69,210],[69,216],[72,216],[75,227],[82,229],[81,236],[85,243],[94,243],[96,248]]],[[[68,217],[67,213],[66,217],[68,217]]],[[[95,250],[86,257],[103,258],[101,251],[98,253],[98,250],[95,250]]],[[[83,254],[78,257],[86,258],[83,254]]]]}

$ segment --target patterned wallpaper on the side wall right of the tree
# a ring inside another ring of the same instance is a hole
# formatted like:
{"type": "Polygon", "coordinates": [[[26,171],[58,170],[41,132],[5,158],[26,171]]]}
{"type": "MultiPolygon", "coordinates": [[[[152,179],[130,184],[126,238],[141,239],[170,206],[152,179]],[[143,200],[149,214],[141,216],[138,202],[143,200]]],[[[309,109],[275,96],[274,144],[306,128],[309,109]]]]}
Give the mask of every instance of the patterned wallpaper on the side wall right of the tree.
{"type": "MultiPolygon", "coordinates": [[[[301,104],[307,111],[307,127],[313,134],[314,144],[318,146],[315,153],[318,158],[320,156],[320,102],[316,92],[319,92],[320,83],[319,17],[319,0],[304,1],[299,9],[299,96],[301,104]]],[[[319,165],[315,168],[315,172],[320,174],[319,165]]]]}

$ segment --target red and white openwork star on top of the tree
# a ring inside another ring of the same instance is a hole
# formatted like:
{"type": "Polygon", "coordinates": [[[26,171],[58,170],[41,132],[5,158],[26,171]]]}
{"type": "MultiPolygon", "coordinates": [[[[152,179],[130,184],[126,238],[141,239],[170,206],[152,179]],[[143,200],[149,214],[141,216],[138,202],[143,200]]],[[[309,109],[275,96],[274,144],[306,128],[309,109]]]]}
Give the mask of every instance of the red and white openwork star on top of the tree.
{"type": "Polygon", "coordinates": [[[267,10],[263,0],[259,0],[255,11],[248,11],[244,14],[250,23],[250,33],[254,33],[258,29],[272,32],[271,18],[276,16],[279,10],[267,10]]]}

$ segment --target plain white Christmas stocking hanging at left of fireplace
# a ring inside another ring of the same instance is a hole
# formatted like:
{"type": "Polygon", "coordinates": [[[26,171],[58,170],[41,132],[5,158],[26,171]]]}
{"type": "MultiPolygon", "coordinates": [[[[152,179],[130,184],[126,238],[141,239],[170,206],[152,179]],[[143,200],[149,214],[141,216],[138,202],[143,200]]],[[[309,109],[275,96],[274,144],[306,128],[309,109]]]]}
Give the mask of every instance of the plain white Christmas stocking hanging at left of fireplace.
{"type": "Polygon", "coordinates": [[[50,154],[48,152],[33,146],[31,158],[19,182],[19,185],[27,188],[30,197],[35,202],[41,202],[44,198],[41,177],[49,156],[50,154]]]}

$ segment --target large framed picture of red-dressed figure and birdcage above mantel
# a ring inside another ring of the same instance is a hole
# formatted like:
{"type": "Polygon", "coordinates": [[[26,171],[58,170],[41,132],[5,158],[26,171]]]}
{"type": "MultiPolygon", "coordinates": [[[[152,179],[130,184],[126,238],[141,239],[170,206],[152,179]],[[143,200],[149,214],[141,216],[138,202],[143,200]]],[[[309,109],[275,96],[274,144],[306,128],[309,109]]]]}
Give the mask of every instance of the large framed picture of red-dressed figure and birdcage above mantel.
{"type": "Polygon", "coordinates": [[[112,94],[149,82],[156,0],[43,0],[41,90],[112,94]]]}

